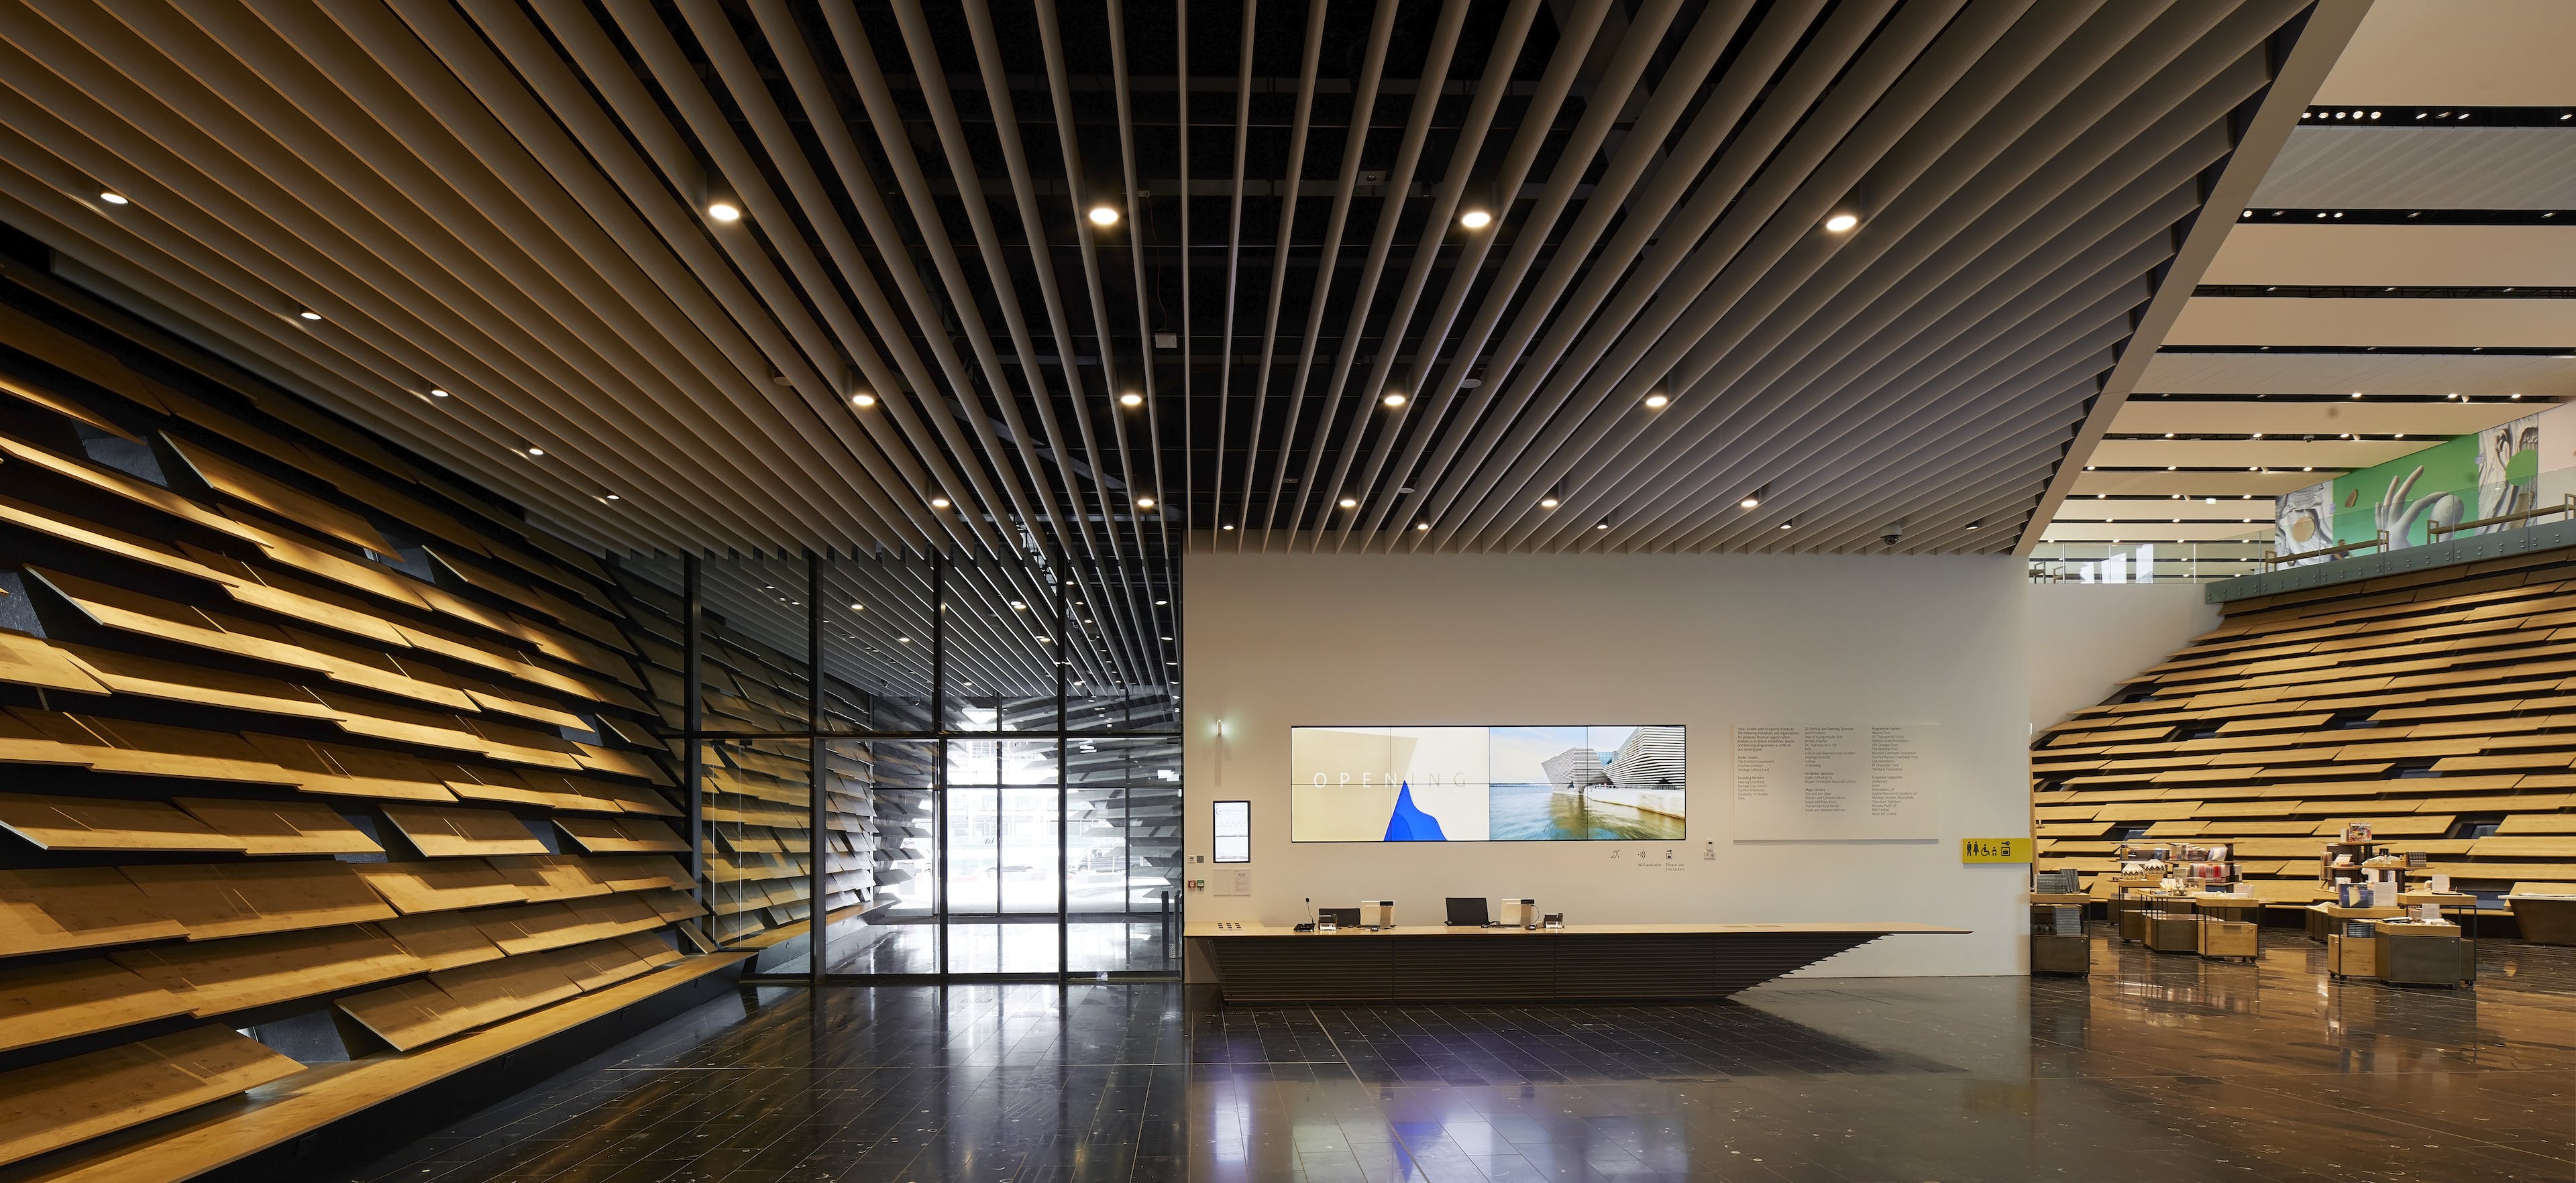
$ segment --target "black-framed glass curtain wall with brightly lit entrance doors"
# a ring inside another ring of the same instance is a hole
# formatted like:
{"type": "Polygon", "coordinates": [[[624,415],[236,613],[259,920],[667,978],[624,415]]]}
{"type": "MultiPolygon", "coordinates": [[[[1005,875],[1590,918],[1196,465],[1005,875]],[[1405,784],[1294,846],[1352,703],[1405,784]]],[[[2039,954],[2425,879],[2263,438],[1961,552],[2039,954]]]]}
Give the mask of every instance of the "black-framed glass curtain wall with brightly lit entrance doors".
{"type": "Polygon", "coordinates": [[[1177,977],[1164,570],[708,557],[621,577],[693,771],[703,938],[755,951],[757,982],[1177,977]]]}

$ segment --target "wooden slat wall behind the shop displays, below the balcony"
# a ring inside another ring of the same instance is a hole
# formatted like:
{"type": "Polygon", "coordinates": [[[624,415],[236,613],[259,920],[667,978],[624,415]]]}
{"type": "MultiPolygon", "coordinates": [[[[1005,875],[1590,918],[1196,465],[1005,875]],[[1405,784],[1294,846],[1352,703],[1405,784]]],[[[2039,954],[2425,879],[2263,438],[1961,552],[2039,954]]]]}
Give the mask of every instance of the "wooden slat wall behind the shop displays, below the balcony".
{"type": "Polygon", "coordinates": [[[2576,889],[2576,552],[2228,603],[2030,771],[2038,866],[2087,881],[2128,832],[2233,843],[2303,907],[2326,835],[2372,822],[2460,889],[2576,889]]]}

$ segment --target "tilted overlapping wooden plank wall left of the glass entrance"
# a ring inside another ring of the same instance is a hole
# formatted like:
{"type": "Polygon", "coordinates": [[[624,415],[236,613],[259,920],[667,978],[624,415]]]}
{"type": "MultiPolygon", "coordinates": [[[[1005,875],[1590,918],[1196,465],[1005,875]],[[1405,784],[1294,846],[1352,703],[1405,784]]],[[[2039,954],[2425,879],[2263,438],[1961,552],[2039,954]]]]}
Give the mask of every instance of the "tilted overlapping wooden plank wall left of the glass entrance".
{"type": "Polygon", "coordinates": [[[706,912],[667,613],[157,348],[0,286],[0,1162],[301,1067],[237,1028],[412,1049],[706,912]]]}

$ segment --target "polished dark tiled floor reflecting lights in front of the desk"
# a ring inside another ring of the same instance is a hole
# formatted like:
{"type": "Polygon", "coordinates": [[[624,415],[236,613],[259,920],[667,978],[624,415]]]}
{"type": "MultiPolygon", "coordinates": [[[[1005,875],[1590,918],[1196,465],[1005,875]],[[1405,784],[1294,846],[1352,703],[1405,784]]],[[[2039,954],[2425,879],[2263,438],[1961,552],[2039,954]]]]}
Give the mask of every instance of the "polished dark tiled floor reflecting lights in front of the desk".
{"type": "Polygon", "coordinates": [[[353,1180],[2576,1180],[2576,948],[2476,990],[2097,943],[2089,979],[1685,1008],[762,990],[353,1180]]]}

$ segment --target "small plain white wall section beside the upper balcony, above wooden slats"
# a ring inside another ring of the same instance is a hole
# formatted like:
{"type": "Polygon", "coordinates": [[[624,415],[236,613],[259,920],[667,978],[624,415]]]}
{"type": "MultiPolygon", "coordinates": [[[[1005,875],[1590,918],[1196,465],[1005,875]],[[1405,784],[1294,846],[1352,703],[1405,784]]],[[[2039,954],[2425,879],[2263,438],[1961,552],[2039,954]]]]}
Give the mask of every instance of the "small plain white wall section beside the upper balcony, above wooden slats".
{"type": "Polygon", "coordinates": [[[2022,624],[2030,727],[2040,729],[2215,629],[2218,606],[2197,582],[2032,582],[2022,624]]]}

